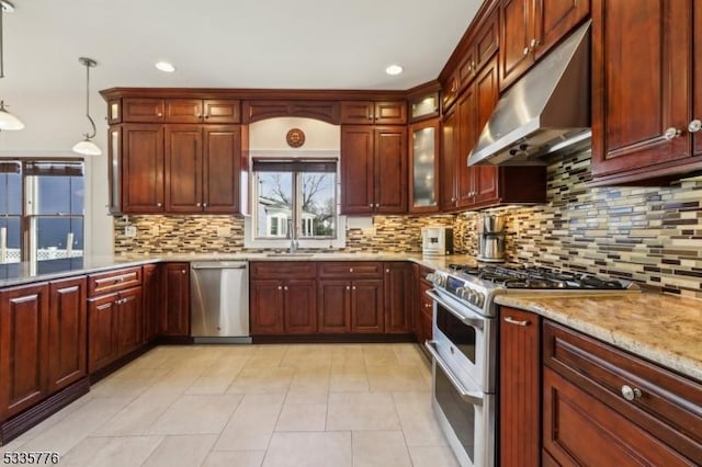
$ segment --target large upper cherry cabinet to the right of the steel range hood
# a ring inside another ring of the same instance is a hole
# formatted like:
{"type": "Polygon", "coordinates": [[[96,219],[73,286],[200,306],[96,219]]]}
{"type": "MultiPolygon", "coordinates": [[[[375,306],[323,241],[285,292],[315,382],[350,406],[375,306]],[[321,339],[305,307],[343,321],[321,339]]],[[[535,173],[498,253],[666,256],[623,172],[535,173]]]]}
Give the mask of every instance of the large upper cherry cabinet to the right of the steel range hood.
{"type": "Polygon", "coordinates": [[[592,1],[596,185],[658,184],[702,168],[700,29],[698,1],[592,1]]]}

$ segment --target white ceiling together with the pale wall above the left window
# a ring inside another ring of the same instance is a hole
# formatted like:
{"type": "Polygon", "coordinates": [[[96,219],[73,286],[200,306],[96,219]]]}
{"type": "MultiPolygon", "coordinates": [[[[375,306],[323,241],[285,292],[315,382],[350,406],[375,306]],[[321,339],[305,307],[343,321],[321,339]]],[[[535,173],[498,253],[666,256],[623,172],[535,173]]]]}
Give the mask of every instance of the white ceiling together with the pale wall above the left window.
{"type": "Polygon", "coordinates": [[[113,87],[406,90],[435,79],[482,0],[11,0],[0,156],[70,155],[113,87]],[[171,61],[174,73],[154,67],[171,61]],[[399,64],[405,72],[389,77],[399,64]]]}

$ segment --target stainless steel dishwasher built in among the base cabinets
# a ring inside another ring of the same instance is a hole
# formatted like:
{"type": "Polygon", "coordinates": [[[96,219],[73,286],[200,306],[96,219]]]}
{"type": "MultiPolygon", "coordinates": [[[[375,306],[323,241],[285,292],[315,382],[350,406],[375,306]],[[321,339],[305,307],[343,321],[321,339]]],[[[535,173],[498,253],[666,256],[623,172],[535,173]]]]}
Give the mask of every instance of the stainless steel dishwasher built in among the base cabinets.
{"type": "Polygon", "coordinates": [[[250,343],[246,261],[190,264],[191,335],[196,343],[250,343]]]}

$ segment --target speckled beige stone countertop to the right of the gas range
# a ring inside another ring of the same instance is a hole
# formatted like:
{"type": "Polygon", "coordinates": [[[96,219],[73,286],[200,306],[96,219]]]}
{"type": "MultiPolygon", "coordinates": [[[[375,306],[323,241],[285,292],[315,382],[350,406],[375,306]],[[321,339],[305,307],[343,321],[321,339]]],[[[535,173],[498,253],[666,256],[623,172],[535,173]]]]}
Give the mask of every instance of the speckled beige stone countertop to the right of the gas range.
{"type": "Polygon", "coordinates": [[[702,300],[623,296],[509,296],[495,301],[545,318],[702,381],[702,300]]]}

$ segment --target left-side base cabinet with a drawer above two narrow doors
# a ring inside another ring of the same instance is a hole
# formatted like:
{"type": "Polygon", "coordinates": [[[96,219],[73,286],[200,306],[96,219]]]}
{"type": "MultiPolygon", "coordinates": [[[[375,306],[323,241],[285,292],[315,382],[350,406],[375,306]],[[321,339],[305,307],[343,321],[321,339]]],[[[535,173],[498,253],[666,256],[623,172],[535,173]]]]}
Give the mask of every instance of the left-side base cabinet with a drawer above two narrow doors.
{"type": "Polygon", "coordinates": [[[88,372],[104,368],[143,342],[141,267],[88,276],[88,372]]]}

